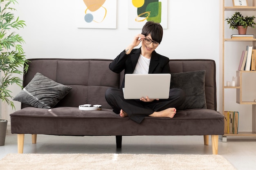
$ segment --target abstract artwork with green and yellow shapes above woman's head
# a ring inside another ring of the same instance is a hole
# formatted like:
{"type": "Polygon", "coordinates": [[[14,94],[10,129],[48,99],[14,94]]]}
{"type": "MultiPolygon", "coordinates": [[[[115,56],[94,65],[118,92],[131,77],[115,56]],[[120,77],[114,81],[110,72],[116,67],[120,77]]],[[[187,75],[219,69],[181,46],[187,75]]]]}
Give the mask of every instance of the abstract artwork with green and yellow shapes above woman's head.
{"type": "Polygon", "coordinates": [[[147,21],[167,29],[167,0],[128,0],[128,29],[141,29],[147,21]]]}

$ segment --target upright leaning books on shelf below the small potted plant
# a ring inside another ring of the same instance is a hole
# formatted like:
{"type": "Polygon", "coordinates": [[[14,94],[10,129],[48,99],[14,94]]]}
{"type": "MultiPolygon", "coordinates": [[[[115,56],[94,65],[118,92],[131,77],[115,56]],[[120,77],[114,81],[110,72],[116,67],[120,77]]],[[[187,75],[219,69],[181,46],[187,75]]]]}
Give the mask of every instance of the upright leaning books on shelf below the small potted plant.
{"type": "Polygon", "coordinates": [[[246,46],[246,49],[242,51],[238,70],[240,71],[256,70],[256,49],[252,49],[252,46],[246,46]]]}

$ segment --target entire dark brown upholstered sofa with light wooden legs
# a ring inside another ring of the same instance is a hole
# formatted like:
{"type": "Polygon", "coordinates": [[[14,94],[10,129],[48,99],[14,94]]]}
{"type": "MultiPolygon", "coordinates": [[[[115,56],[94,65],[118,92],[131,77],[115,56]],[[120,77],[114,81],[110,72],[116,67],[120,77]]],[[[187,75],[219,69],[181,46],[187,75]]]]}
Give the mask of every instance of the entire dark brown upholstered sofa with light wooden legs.
{"type": "MultiPolygon", "coordinates": [[[[18,134],[18,153],[23,153],[24,134],[70,136],[116,136],[121,148],[122,136],[134,135],[203,135],[213,154],[218,154],[218,135],[224,134],[224,117],[216,104],[216,65],[213,60],[170,60],[171,73],[205,70],[206,108],[178,110],[175,117],[146,117],[137,124],[128,117],[112,112],[105,100],[109,87],[119,87],[123,74],[113,73],[112,60],[100,59],[31,59],[24,75],[24,87],[39,72],[50,79],[72,87],[51,109],[22,104],[11,116],[11,133],[18,134]],[[81,104],[101,104],[102,110],[79,110],[81,104]]],[[[192,102],[192,101],[191,101],[192,102]]],[[[188,141],[189,142],[189,141],[188,141]]]]}

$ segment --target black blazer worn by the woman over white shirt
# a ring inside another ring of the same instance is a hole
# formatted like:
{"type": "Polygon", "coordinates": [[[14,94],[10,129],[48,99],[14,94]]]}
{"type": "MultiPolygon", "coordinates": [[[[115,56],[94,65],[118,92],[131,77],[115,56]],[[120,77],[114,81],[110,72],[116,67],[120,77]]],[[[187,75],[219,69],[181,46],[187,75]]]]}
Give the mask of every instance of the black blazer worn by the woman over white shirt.
{"type": "MultiPolygon", "coordinates": [[[[124,74],[132,74],[135,70],[135,66],[138,62],[141,48],[133,49],[130,54],[126,54],[125,50],[122,51],[110,64],[109,68],[115,73],[121,73],[124,70],[124,74]]],[[[152,73],[171,73],[169,66],[169,58],[160,55],[153,51],[150,64],[149,74],[152,73]]],[[[124,80],[121,88],[124,87],[124,80]]]]}

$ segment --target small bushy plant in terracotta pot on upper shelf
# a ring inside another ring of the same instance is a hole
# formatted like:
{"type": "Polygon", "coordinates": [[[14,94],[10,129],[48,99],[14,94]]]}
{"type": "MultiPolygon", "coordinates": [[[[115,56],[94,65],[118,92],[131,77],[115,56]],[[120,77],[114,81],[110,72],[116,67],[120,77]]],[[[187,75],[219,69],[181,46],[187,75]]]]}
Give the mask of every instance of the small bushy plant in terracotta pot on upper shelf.
{"type": "Polygon", "coordinates": [[[230,25],[230,29],[238,29],[238,34],[246,34],[247,27],[254,28],[255,22],[254,22],[255,16],[251,17],[244,17],[240,12],[235,12],[234,15],[231,16],[231,18],[227,18],[227,23],[230,25]]]}

